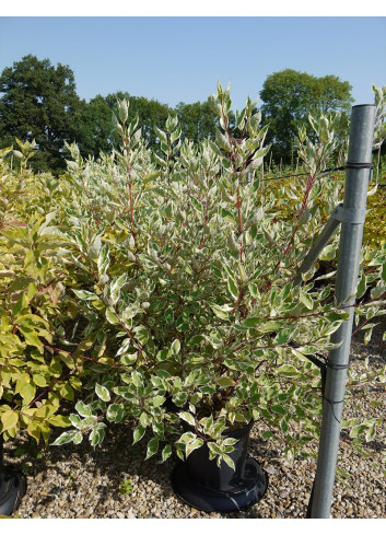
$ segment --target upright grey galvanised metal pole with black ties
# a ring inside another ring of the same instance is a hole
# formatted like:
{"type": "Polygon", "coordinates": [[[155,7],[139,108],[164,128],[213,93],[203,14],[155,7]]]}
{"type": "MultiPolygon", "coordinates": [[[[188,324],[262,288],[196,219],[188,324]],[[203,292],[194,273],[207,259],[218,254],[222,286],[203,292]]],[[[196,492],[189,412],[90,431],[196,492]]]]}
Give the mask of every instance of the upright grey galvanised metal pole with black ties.
{"type": "MultiPolygon", "coordinates": [[[[336,304],[338,306],[353,305],[355,302],[353,295],[355,295],[359,276],[375,109],[372,104],[352,107],[344,200],[339,213],[341,234],[336,283],[336,304]]],[[[312,499],[312,519],[330,516],[347,367],[350,358],[353,309],[353,306],[347,309],[350,313],[349,319],[331,335],[331,341],[341,342],[341,346],[331,350],[328,358],[318,463],[312,499]]]]}

